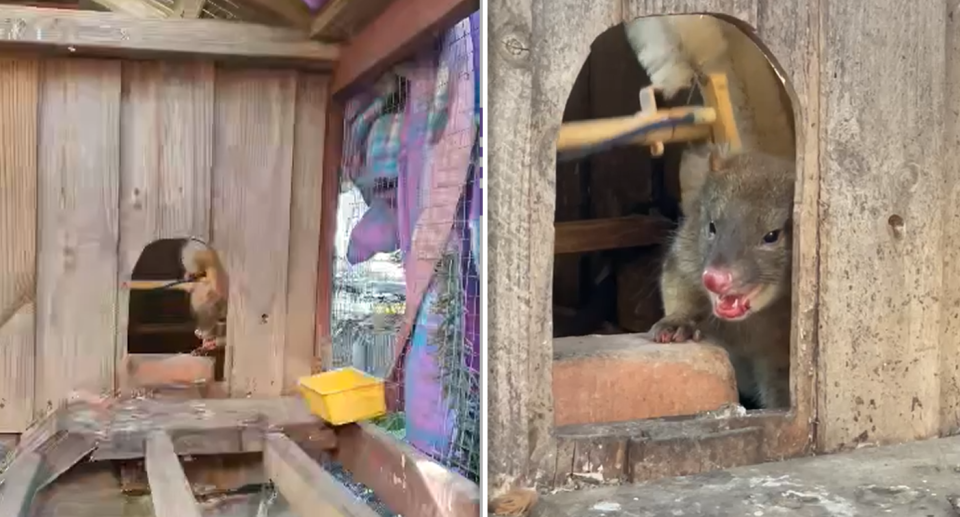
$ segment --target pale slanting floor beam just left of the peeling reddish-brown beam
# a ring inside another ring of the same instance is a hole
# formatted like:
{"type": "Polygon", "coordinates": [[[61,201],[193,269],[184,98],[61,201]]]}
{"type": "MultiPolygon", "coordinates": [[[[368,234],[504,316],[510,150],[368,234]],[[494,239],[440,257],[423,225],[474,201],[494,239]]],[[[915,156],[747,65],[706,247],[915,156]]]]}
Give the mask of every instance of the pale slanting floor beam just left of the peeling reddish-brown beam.
{"type": "Polygon", "coordinates": [[[279,433],[267,435],[263,451],[267,476],[299,517],[376,517],[342,483],[303,449],[279,433]]]}

